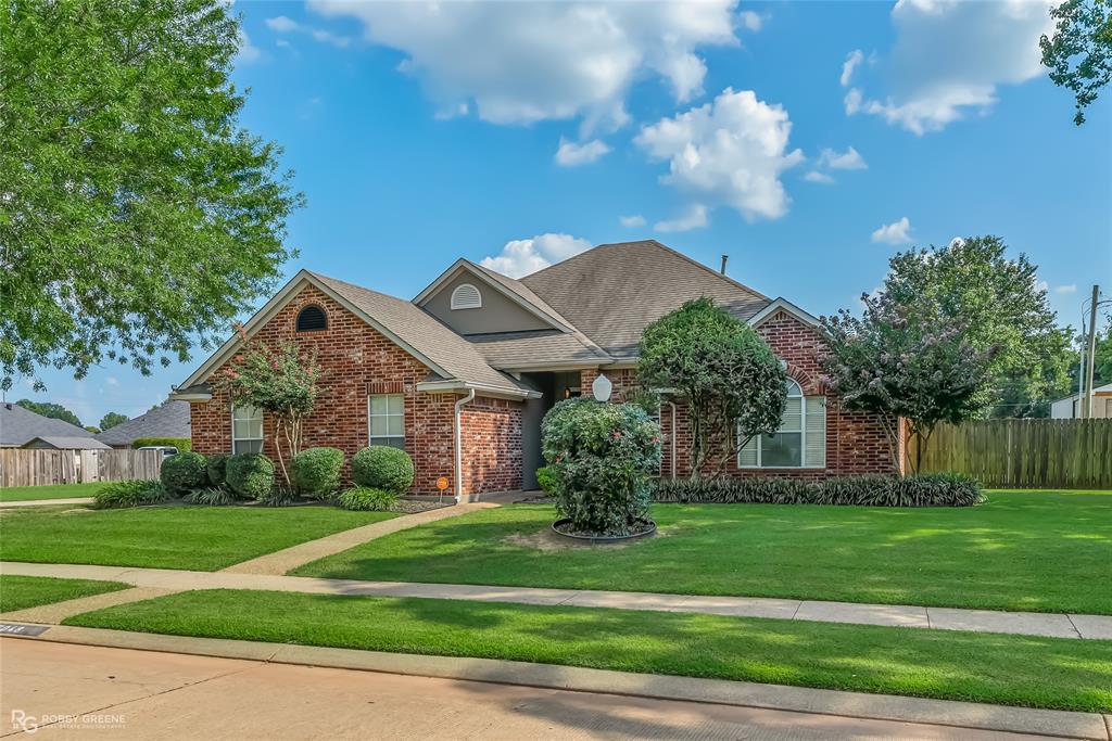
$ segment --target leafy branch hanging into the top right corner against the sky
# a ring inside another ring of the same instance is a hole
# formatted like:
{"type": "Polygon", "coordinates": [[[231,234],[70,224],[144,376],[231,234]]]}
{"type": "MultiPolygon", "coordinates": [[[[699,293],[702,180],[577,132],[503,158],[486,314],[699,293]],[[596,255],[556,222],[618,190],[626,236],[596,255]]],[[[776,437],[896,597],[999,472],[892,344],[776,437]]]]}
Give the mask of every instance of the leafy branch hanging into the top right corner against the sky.
{"type": "Polygon", "coordinates": [[[1066,0],[1050,11],[1054,33],[1039,40],[1043,66],[1054,84],[1076,101],[1073,122],[1085,122],[1085,108],[1112,80],[1112,0],[1066,0]]]}

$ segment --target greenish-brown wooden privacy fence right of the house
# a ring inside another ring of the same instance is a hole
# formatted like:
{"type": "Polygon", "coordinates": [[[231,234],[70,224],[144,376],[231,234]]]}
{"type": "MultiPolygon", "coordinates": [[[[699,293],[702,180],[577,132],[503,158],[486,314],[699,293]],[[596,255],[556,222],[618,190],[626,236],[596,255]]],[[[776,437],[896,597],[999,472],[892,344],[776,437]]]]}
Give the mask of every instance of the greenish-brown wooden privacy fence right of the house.
{"type": "MultiPolygon", "coordinates": [[[[907,441],[909,467],[916,440],[907,441]]],[[[920,471],[955,471],[999,489],[1112,489],[1112,419],[940,424],[920,471]]]]}

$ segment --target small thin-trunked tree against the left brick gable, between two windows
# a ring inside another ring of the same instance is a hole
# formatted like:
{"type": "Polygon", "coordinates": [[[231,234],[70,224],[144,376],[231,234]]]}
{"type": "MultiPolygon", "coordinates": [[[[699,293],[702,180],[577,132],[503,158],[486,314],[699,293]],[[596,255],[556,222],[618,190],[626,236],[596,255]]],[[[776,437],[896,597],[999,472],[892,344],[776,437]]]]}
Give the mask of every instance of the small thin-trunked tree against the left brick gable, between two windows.
{"type": "Polygon", "coordinates": [[[301,452],[305,419],[320,395],[322,372],[316,350],[300,350],[290,341],[267,344],[248,340],[231,362],[216,374],[212,385],[227,392],[234,404],[255,407],[274,423],[274,447],[278,469],[290,485],[286,461],[301,452]]]}

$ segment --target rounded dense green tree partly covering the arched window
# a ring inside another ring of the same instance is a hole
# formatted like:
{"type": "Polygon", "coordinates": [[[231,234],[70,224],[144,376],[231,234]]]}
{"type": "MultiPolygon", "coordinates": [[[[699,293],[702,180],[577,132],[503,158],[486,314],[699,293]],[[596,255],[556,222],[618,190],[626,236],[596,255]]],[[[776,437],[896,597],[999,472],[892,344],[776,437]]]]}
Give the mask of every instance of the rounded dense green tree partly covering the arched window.
{"type": "Polygon", "coordinates": [[[718,475],[758,434],[780,428],[787,373],[752,327],[708,298],[686,302],[645,328],[637,377],[683,397],[692,479],[718,475]]]}

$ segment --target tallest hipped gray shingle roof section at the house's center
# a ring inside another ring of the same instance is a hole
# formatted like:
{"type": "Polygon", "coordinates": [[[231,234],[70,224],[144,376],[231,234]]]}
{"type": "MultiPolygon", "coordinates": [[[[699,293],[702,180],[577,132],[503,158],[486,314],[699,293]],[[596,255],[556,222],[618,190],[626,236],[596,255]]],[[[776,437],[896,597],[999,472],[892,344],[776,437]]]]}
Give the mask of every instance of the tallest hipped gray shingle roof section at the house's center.
{"type": "Polygon", "coordinates": [[[520,282],[615,357],[635,356],[645,327],[691,299],[714,299],[738,319],[770,302],[652,239],[599,244],[520,282]]]}

